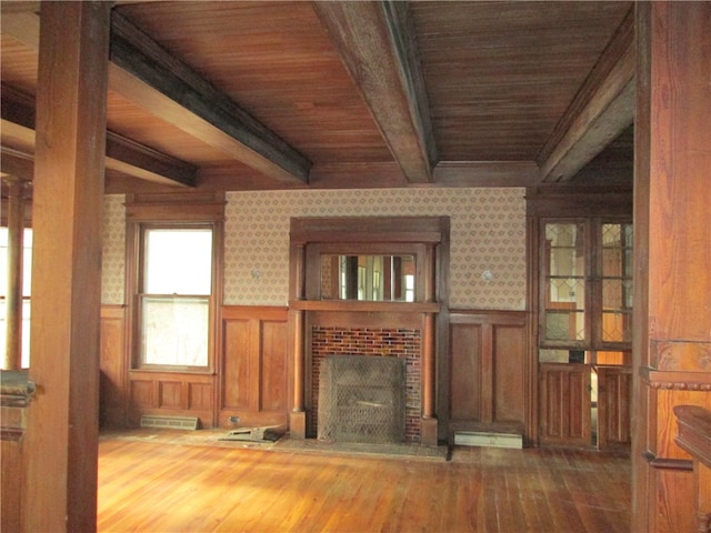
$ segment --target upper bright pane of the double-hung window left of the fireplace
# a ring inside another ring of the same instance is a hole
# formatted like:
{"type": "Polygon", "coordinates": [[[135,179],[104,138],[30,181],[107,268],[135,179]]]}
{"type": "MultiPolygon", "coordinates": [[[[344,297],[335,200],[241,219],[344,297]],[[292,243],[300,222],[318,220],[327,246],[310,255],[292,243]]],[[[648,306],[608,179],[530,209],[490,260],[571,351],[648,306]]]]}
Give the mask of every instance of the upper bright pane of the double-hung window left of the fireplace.
{"type": "Polygon", "coordinates": [[[147,230],[143,292],[210,294],[212,231],[147,230]]]}

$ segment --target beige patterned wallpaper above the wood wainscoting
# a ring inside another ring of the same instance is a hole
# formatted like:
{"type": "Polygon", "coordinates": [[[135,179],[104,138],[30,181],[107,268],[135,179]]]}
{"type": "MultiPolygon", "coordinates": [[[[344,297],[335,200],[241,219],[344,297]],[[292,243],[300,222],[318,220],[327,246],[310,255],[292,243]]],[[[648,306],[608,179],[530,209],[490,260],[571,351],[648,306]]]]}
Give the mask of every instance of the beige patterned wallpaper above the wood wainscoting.
{"type": "MultiPolygon", "coordinates": [[[[523,194],[518,188],[229,192],[224,304],[287,305],[292,217],[449,215],[450,308],[523,310],[523,194]]],[[[107,197],[103,303],[123,303],[122,202],[107,197]]]]}

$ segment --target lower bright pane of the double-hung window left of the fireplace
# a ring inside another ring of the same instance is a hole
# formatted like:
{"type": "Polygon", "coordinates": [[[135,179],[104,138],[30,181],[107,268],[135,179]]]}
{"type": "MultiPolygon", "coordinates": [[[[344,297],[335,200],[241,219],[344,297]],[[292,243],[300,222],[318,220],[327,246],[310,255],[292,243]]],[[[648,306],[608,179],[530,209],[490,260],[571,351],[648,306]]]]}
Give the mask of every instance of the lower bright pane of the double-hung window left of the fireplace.
{"type": "Polygon", "coordinates": [[[143,298],[141,362],[207,366],[208,316],[208,298],[143,298]]]}

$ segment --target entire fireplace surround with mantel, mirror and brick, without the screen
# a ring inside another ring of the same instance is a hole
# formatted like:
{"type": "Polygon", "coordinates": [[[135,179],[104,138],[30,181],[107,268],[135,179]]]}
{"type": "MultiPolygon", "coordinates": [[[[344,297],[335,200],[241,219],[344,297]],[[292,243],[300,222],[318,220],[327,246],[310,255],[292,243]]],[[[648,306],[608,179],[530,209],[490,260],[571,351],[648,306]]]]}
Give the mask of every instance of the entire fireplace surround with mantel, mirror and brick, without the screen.
{"type": "Polygon", "coordinates": [[[293,439],[318,436],[323,359],[398,358],[405,366],[404,442],[438,445],[444,434],[437,380],[445,371],[438,353],[447,352],[449,225],[448,217],[291,219],[293,439]]]}

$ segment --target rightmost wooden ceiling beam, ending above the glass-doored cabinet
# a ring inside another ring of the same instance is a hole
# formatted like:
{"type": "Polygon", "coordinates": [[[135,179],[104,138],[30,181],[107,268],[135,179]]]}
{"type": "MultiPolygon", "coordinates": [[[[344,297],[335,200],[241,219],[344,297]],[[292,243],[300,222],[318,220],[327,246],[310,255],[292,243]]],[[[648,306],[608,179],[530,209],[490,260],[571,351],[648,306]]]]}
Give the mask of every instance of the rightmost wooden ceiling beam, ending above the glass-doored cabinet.
{"type": "Polygon", "coordinates": [[[545,182],[569,181],[634,120],[631,10],[541,150],[545,182]]]}

